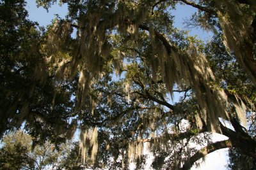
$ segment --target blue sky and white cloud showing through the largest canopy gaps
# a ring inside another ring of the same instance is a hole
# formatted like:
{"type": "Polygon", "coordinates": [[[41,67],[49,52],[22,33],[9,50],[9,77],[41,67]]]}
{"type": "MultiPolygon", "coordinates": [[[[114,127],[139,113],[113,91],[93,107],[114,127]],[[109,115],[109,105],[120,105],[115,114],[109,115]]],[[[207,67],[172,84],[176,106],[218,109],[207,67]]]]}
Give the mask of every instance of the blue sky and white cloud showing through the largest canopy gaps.
{"type": "MultiPolygon", "coordinates": [[[[32,21],[38,22],[40,26],[47,26],[48,24],[51,24],[52,19],[54,18],[54,14],[58,14],[61,18],[65,18],[65,15],[67,14],[68,8],[67,5],[59,6],[58,3],[53,5],[49,12],[40,7],[36,8],[35,0],[28,0],[28,4],[26,6],[26,9],[29,12],[29,19],[32,21]]],[[[175,26],[180,29],[186,29],[184,27],[184,20],[189,19],[189,16],[191,16],[193,13],[195,13],[197,10],[191,6],[177,6],[177,10],[173,11],[173,15],[175,15],[175,26]]],[[[212,32],[203,31],[202,29],[187,29],[189,32],[189,35],[195,36],[197,35],[198,38],[209,41],[212,37],[212,32]]],[[[175,95],[175,100],[179,99],[179,95],[175,95]]],[[[213,152],[207,155],[205,157],[204,162],[200,165],[200,167],[193,167],[192,169],[207,169],[207,170],[224,170],[225,164],[227,164],[227,150],[220,150],[218,152],[213,152]]],[[[200,162],[200,160],[199,160],[200,162]]]]}

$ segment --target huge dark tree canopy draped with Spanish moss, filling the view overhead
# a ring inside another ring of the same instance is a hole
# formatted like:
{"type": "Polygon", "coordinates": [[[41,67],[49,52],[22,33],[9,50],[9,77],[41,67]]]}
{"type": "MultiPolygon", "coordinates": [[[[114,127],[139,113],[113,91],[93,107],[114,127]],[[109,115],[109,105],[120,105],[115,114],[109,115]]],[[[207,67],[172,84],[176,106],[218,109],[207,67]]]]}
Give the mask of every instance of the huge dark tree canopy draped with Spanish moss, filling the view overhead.
{"type": "Polygon", "coordinates": [[[58,148],[80,132],[93,169],[143,169],[146,146],[154,169],[189,169],[221,148],[230,168],[255,169],[255,0],[59,3],[67,16],[45,28],[28,20],[25,0],[0,1],[1,134],[23,123],[33,147],[58,148]],[[198,10],[187,24],[211,41],[173,26],[177,4],[198,10]]]}

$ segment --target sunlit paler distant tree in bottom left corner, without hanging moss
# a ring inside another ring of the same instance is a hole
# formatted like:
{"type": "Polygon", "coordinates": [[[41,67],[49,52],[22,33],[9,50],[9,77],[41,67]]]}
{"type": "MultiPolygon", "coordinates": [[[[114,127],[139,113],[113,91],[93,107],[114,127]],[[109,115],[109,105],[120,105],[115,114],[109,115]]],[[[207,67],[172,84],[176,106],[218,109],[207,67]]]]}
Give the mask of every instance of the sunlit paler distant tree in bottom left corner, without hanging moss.
{"type": "Polygon", "coordinates": [[[74,161],[79,158],[79,154],[78,150],[71,150],[70,143],[63,143],[58,148],[49,141],[35,148],[32,143],[31,136],[21,130],[5,135],[0,150],[1,169],[72,169],[81,164],[81,159],[79,162],[74,161]],[[76,157],[71,158],[71,155],[76,157]],[[67,165],[70,159],[72,164],[67,165]]]}

